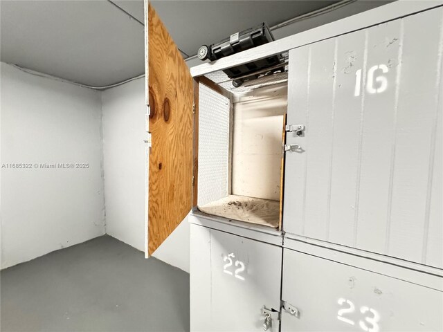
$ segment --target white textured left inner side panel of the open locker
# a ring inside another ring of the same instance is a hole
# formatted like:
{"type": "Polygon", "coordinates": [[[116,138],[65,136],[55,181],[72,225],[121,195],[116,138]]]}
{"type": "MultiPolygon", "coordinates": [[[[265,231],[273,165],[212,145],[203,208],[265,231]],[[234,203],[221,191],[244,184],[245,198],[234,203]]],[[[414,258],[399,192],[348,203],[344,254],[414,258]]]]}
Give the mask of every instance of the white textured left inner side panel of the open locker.
{"type": "Polygon", "coordinates": [[[228,195],[229,103],[228,98],[199,84],[198,205],[228,195]]]}

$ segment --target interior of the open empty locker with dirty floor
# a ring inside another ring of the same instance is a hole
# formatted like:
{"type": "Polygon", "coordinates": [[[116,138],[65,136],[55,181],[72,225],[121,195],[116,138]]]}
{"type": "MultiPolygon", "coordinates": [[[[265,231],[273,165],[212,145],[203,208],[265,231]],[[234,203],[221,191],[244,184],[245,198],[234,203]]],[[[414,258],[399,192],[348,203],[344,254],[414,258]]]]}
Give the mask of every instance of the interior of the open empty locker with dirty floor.
{"type": "Polygon", "coordinates": [[[287,72],[199,77],[197,209],[281,229],[287,72]]]}

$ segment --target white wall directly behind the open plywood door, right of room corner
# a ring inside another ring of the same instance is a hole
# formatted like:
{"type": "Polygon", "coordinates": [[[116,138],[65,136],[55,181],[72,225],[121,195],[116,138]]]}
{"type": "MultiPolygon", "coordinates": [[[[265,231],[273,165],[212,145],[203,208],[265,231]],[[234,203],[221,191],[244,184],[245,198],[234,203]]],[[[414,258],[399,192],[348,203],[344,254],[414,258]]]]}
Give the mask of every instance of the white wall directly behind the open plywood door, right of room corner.
{"type": "MultiPolygon", "coordinates": [[[[145,248],[145,81],[102,93],[107,234],[145,248]]],[[[184,219],[154,257],[189,272],[189,225],[184,219]]]]}

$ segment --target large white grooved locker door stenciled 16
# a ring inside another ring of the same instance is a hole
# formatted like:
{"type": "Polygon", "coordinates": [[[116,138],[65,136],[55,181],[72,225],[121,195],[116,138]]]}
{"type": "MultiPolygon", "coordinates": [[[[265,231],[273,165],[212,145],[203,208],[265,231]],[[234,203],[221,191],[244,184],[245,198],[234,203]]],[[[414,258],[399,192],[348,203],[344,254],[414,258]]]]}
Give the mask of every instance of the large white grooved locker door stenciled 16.
{"type": "MultiPolygon", "coordinates": [[[[289,53],[283,228],[443,268],[443,9],[289,53]]],[[[289,234],[290,237],[290,234],[289,234]]]]}

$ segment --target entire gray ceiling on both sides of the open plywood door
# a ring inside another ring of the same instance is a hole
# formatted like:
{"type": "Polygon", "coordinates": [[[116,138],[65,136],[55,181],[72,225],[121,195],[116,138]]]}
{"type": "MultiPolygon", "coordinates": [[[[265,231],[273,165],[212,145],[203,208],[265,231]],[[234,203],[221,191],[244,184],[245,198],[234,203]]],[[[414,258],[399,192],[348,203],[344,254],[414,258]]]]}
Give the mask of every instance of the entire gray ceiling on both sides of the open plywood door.
{"type": "MultiPolygon", "coordinates": [[[[113,2],[1,0],[1,61],[92,86],[143,74],[143,1],[113,2]]],[[[262,21],[273,26],[334,2],[152,1],[152,5],[179,48],[195,55],[201,44],[218,42],[262,21]]]]}

